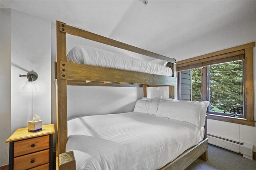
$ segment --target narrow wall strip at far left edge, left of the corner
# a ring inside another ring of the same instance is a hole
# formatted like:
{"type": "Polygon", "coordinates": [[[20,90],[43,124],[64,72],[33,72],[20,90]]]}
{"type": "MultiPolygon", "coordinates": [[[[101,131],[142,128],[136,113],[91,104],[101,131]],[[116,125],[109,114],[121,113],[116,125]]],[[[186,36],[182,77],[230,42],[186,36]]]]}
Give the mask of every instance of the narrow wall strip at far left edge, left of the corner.
{"type": "Polygon", "coordinates": [[[5,143],[11,135],[11,12],[1,9],[1,54],[0,54],[0,165],[8,163],[9,144],[5,143]]]}

